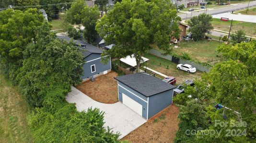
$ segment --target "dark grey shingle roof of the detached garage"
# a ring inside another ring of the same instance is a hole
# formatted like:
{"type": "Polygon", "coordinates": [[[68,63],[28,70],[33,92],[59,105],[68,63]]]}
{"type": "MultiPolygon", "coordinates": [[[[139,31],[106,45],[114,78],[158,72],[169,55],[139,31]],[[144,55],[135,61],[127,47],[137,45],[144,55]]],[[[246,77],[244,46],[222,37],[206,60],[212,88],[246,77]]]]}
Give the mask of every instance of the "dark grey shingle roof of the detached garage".
{"type": "Polygon", "coordinates": [[[175,86],[163,82],[162,80],[145,72],[118,76],[115,77],[115,79],[146,97],[175,88],[175,86]]]}

